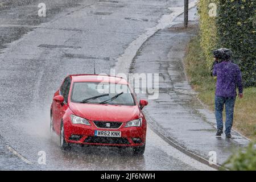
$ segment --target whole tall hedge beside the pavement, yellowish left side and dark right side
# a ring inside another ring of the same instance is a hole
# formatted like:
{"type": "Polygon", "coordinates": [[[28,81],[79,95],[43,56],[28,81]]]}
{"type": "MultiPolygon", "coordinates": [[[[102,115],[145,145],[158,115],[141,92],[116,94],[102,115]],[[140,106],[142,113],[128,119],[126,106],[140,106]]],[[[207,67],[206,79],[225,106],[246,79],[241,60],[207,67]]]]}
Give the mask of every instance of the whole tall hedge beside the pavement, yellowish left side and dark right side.
{"type": "Polygon", "coordinates": [[[201,47],[212,62],[212,50],[232,49],[245,86],[256,86],[255,0],[199,0],[201,47]],[[217,16],[210,17],[209,3],[216,3],[217,16]]]}

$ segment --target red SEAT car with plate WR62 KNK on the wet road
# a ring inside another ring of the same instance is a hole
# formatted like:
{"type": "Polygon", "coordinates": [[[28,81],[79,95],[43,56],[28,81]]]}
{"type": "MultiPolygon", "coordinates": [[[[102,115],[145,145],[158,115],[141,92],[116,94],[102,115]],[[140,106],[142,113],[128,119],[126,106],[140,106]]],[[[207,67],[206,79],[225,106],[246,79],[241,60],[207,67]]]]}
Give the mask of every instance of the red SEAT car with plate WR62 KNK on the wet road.
{"type": "Polygon", "coordinates": [[[121,77],[69,75],[55,92],[51,105],[51,132],[60,135],[60,148],[71,143],[133,147],[143,154],[147,122],[146,100],[137,101],[121,77]]]}

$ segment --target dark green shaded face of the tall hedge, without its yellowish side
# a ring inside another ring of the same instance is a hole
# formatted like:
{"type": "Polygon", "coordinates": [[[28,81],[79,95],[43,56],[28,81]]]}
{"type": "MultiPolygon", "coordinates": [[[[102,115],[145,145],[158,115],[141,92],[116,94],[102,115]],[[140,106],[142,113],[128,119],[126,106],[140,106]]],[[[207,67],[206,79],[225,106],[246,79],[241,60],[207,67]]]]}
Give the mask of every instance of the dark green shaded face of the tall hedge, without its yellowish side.
{"type": "Polygon", "coordinates": [[[256,86],[255,0],[220,1],[216,22],[219,47],[232,49],[245,86],[256,86]]]}

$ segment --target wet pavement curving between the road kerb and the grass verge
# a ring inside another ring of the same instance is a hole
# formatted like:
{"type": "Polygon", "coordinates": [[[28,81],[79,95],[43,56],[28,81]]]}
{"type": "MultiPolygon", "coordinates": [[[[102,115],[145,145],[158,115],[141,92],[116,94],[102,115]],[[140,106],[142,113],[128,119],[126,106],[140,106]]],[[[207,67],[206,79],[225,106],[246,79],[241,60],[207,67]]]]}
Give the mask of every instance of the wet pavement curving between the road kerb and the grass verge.
{"type": "MultiPolygon", "coordinates": [[[[237,131],[232,139],[216,138],[216,121],[210,111],[197,99],[184,73],[183,59],[186,46],[198,31],[196,8],[190,10],[189,27],[183,28],[183,15],[174,26],[156,32],[143,43],[134,57],[130,73],[159,73],[159,98],[145,107],[151,129],[173,146],[207,163],[216,152],[221,165],[249,140],[237,131]]],[[[148,94],[138,94],[148,98],[148,94]]]]}

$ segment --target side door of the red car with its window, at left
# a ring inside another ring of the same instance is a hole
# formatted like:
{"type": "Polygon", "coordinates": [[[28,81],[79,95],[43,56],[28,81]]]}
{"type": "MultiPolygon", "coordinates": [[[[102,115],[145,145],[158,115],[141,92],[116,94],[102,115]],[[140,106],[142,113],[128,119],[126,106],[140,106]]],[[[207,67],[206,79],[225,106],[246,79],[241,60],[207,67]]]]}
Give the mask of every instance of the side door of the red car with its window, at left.
{"type": "Polygon", "coordinates": [[[68,94],[69,89],[71,85],[71,79],[69,77],[65,78],[63,85],[60,87],[60,95],[64,97],[63,104],[60,104],[60,102],[54,102],[54,114],[55,114],[55,122],[53,124],[53,127],[57,133],[60,133],[60,122],[61,118],[65,114],[65,110],[68,109],[68,94]]]}

